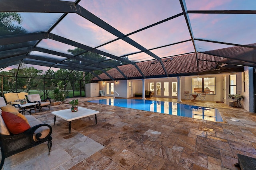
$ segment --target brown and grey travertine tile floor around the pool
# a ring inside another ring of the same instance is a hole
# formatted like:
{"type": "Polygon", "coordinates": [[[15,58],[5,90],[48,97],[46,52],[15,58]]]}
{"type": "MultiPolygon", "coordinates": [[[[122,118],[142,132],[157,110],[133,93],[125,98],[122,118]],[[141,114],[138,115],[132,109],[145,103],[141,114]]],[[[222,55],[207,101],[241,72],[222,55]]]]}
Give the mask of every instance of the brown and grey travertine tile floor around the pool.
{"type": "Polygon", "coordinates": [[[52,125],[52,152],[45,143],[7,158],[4,169],[236,170],[237,153],[256,158],[256,113],[182,100],[218,108],[224,122],[212,122],[86,102],[102,98],[79,98],[79,106],[100,111],[98,124],[94,116],[72,121],[71,134],[68,122],[57,117],[54,125],[51,114],[69,104],[32,113],[52,125]]]}

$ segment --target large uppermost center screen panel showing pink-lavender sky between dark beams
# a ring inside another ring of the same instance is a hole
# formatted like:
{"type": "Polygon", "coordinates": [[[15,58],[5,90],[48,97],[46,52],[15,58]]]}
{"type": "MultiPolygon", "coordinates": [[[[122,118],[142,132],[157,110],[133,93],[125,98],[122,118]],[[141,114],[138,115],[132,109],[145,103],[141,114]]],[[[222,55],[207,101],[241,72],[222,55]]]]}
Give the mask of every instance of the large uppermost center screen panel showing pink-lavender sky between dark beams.
{"type": "Polygon", "coordinates": [[[79,5],[125,35],[182,12],[179,0],[81,0],[79,5]]]}

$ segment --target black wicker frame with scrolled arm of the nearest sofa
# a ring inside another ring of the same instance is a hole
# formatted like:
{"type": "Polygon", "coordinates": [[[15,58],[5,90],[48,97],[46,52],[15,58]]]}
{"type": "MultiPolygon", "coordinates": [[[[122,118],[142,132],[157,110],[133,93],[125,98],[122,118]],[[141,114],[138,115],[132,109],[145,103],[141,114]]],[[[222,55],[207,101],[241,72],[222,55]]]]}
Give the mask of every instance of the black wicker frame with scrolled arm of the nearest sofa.
{"type": "Polygon", "coordinates": [[[24,131],[23,133],[17,134],[17,135],[0,135],[0,147],[2,152],[2,160],[0,164],[0,170],[4,166],[4,159],[8,158],[9,156],[12,156],[14,154],[17,154],[19,152],[22,152],[26,149],[35,147],[36,145],[39,145],[41,143],[44,143],[48,141],[48,150],[49,154],[52,149],[52,127],[48,124],[40,124],[36,125],[34,127],[31,127],[30,129],[24,131]],[[47,126],[50,129],[49,134],[44,137],[41,137],[41,133],[36,134],[36,139],[38,141],[34,141],[33,134],[39,127],[47,126]]]}

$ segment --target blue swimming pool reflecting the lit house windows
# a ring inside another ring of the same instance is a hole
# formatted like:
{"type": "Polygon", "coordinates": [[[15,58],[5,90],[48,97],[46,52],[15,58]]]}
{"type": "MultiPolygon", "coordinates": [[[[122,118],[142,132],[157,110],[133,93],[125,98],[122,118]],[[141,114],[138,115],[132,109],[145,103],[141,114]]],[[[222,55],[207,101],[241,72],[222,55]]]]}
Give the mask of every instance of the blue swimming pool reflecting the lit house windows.
{"type": "Polygon", "coordinates": [[[126,107],[145,111],[154,111],[170,115],[192,117],[210,121],[223,121],[218,109],[200,106],[191,106],[186,104],[163,102],[142,99],[101,99],[88,102],[106,104],[111,106],[126,107]]]}

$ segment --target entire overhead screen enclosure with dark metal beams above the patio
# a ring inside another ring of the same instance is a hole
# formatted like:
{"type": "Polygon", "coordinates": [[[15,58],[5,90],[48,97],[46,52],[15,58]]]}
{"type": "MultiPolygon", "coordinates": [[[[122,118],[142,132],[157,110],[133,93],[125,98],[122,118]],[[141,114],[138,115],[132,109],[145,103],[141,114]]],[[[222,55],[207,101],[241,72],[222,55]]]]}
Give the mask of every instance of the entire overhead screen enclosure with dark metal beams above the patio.
{"type": "MultiPolygon", "coordinates": [[[[214,50],[228,47],[245,47],[250,51],[246,59],[235,57],[238,61],[233,63],[256,65],[254,0],[1,2],[0,61],[4,63],[1,68],[26,61],[47,66],[51,63],[58,68],[68,65],[68,69],[98,70],[186,53],[217,55],[214,50]],[[11,20],[7,25],[11,29],[6,29],[4,23],[8,22],[4,22],[3,12],[17,13],[22,22],[11,20]],[[45,61],[40,61],[31,56],[31,51],[49,55],[39,55],[45,57],[45,61]],[[96,53],[96,58],[88,57],[89,52],[96,53]],[[66,60],[60,61],[52,55],[66,60]],[[103,57],[98,59],[97,55],[103,57]]],[[[229,55],[222,53],[220,57],[230,59],[229,55]]]]}

